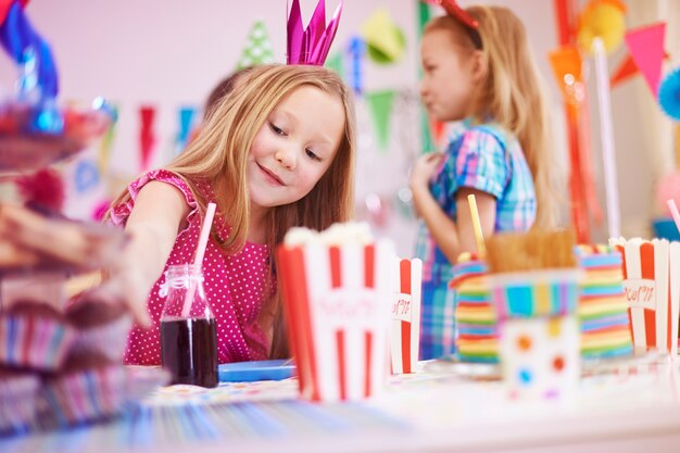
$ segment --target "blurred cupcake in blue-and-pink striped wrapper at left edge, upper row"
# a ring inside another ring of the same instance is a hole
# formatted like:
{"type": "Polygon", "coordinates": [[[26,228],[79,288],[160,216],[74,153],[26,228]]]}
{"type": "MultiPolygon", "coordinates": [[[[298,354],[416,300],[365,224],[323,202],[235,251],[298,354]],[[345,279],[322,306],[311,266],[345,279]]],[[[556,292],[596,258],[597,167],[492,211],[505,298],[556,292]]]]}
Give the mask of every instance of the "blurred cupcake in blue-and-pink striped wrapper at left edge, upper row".
{"type": "Polygon", "coordinates": [[[54,372],[75,341],[66,318],[47,303],[16,301],[0,316],[0,364],[54,372]]]}

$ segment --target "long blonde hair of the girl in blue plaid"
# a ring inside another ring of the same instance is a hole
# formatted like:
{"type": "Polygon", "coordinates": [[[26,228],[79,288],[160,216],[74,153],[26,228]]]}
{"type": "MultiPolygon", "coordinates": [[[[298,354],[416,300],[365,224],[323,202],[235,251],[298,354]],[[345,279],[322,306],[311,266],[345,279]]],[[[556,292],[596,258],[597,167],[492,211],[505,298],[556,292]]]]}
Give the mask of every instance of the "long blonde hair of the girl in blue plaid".
{"type": "Polygon", "coordinates": [[[554,226],[559,206],[551,177],[555,179],[558,172],[551,152],[553,137],[544,83],[525,27],[507,8],[478,5],[465,11],[479,23],[477,29],[446,14],[431,20],[425,33],[450,32],[456,45],[484,53],[488,74],[475,99],[473,114],[479,122],[491,116],[517,137],[536,187],[534,226],[554,226]]]}

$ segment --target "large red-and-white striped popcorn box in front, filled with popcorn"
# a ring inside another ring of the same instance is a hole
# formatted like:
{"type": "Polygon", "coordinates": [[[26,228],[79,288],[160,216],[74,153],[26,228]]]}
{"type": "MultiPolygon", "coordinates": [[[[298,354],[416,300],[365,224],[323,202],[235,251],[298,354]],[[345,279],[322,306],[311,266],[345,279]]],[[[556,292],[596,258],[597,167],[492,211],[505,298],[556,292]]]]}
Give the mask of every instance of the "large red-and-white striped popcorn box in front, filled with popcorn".
{"type": "Polygon", "coordinates": [[[382,388],[393,249],[389,240],[341,246],[313,240],[278,248],[302,398],[357,400],[382,388]]]}

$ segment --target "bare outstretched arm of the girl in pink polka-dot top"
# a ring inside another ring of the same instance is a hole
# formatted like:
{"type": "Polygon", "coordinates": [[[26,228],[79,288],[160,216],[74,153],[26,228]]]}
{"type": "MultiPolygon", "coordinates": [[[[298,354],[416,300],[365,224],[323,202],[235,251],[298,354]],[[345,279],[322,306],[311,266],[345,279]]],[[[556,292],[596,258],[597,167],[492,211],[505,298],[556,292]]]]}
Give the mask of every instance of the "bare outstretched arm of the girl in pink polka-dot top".
{"type": "Polygon", "coordinates": [[[169,184],[150,181],[142,187],[125,225],[130,242],[103,291],[98,291],[103,298],[122,298],[142,326],[151,323],[149,291],[165,267],[189,209],[181,191],[169,184]]]}

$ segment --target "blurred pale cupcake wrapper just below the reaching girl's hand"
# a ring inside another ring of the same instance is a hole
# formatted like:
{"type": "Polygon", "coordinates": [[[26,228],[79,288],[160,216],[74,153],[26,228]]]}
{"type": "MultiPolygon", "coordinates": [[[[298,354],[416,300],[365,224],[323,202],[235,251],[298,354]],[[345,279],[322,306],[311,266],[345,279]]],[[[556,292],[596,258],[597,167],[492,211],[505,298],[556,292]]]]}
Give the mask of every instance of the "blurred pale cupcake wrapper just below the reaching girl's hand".
{"type": "Polygon", "coordinates": [[[127,344],[127,332],[133,326],[130,316],[121,316],[113,323],[79,330],[73,353],[100,352],[113,362],[121,362],[127,344]]]}

